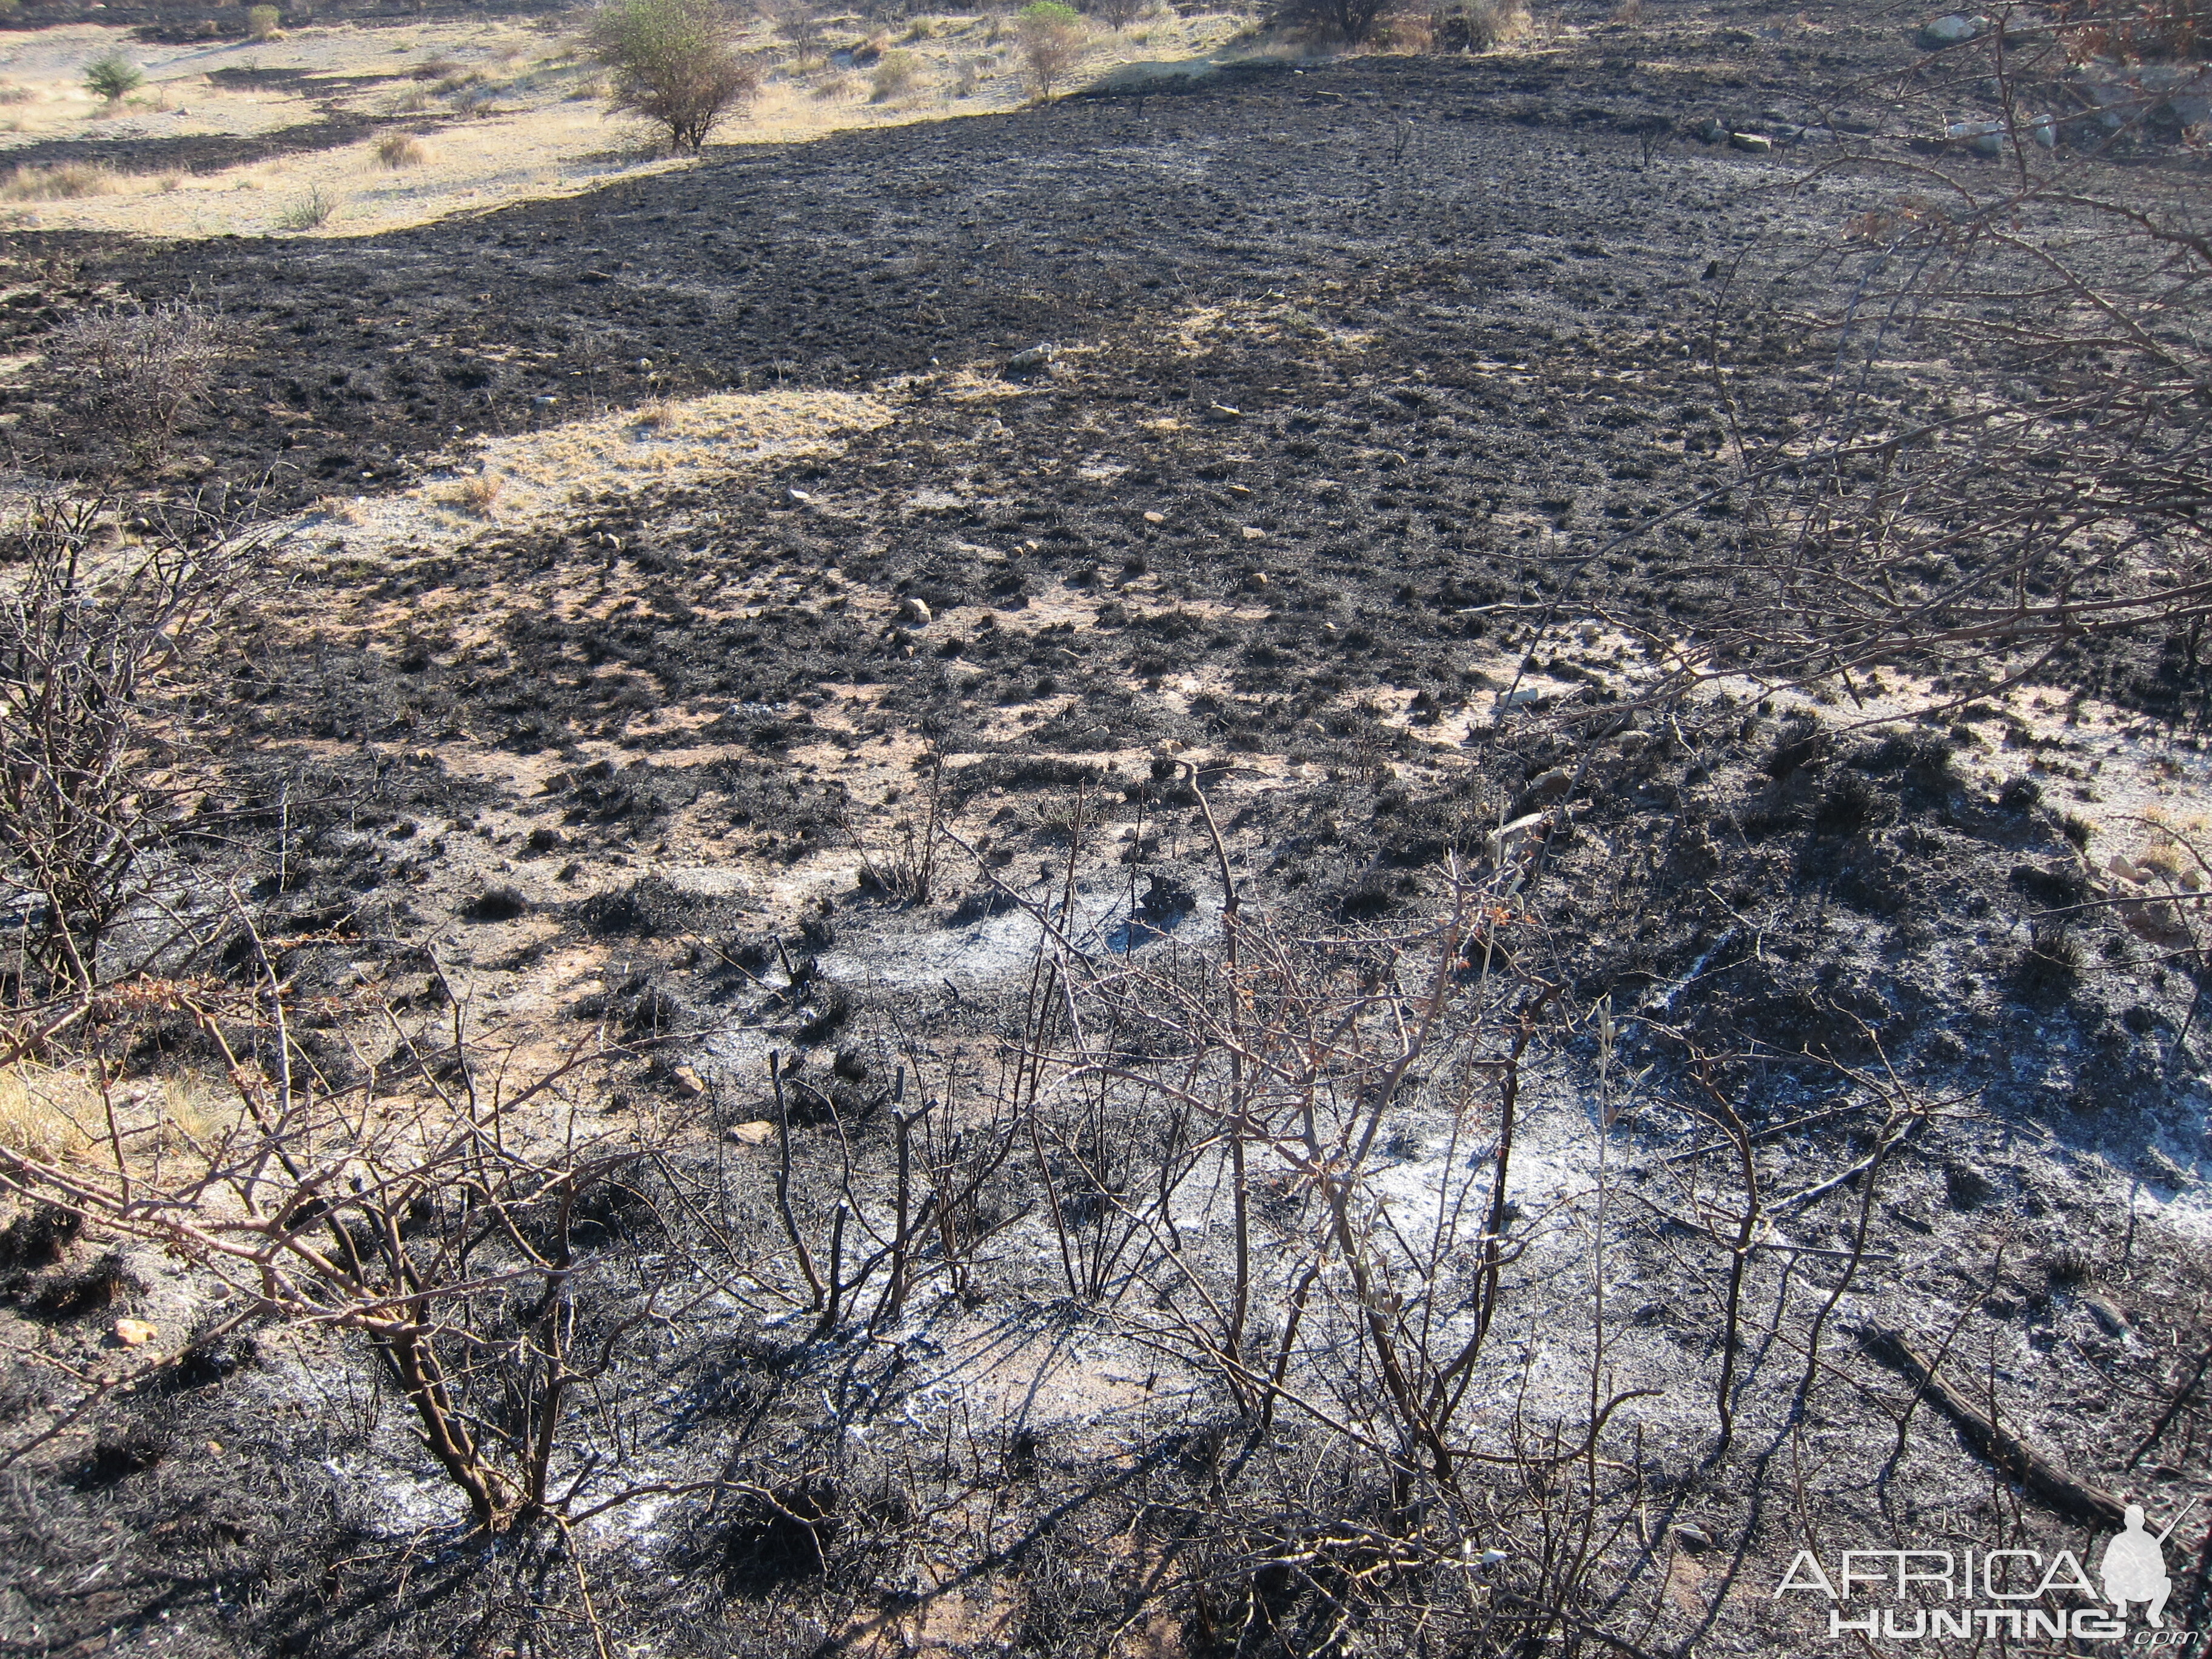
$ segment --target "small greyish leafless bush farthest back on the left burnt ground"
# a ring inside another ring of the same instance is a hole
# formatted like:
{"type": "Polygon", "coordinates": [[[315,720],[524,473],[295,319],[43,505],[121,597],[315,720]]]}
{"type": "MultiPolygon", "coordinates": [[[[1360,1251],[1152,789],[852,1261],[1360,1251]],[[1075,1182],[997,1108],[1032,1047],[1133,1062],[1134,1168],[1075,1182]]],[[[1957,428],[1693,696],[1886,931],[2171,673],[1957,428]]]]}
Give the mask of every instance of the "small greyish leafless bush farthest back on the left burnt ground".
{"type": "Polygon", "coordinates": [[[164,301],[86,312],[53,354],[75,380],[77,416],[144,462],[168,453],[177,422],[243,347],[246,332],[212,305],[164,301]]]}

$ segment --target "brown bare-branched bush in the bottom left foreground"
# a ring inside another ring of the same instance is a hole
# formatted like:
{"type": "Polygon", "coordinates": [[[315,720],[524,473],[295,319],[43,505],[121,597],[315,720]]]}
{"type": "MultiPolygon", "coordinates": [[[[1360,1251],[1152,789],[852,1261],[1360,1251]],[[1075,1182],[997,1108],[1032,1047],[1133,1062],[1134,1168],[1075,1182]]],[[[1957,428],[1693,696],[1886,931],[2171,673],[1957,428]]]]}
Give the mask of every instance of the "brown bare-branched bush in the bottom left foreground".
{"type": "Polygon", "coordinates": [[[624,1338],[681,1312],[595,1279],[595,1243],[659,1225],[646,1150],[580,1133],[560,1097],[619,1051],[588,1042],[502,1088],[478,1084],[458,1026],[445,1053],[400,1033],[420,1091],[343,1091],[294,1044],[283,987],[261,967],[252,993],[168,993],[221,1051],[228,1110],[179,1130],[104,1091],[82,1126],[97,1159],[0,1141],[0,1192],[190,1263],[221,1287],[219,1329],[365,1336],[487,1533],[639,1495],[599,1489],[604,1453],[568,1433],[624,1338]]]}

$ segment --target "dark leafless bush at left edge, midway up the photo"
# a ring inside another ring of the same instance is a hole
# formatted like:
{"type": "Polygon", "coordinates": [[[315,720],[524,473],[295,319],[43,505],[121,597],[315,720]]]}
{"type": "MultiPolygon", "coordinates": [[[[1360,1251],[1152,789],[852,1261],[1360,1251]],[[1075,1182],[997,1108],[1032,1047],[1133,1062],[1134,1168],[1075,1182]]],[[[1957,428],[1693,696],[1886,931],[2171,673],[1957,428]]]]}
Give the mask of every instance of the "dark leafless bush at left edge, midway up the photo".
{"type": "Polygon", "coordinates": [[[0,538],[0,883],[15,993],[86,995],[144,902],[144,860],[190,790],[179,703],[259,542],[234,522],[146,524],[40,502],[0,538]]]}

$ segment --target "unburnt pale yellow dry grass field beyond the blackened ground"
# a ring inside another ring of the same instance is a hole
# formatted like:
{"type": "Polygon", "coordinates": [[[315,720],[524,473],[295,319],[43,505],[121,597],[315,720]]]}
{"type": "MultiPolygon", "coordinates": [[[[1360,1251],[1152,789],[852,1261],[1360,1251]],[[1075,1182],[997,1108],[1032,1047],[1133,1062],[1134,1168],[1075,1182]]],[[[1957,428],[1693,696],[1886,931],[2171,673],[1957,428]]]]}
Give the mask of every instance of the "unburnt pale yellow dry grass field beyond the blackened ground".
{"type": "MultiPolygon", "coordinates": [[[[1150,18],[1126,33],[1099,31],[1079,80],[1130,62],[1199,58],[1243,29],[1243,18],[1221,13],[1150,18]]],[[[1002,20],[936,15],[907,35],[898,46],[902,73],[878,88],[867,64],[838,60],[867,44],[856,20],[825,24],[821,51],[807,60],[765,20],[748,24],[741,46],[772,66],[759,97],[717,131],[714,144],[787,144],[860,126],[989,115],[1029,100],[1002,20]]],[[[246,66],[361,77],[345,88],[343,108],[420,113],[434,139],[420,159],[407,153],[398,166],[380,153],[387,131],[332,150],[215,173],[117,173],[102,195],[18,204],[0,212],[0,228],[186,239],[285,234],[285,204],[321,190],[336,204],[330,219],[290,234],[358,237],[686,166],[650,157],[635,128],[606,115],[597,71],[573,35],[535,18],[462,18],[405,29],[307,27],[259,44],[161,46],[102,24],[15,33],[7,53],[15,102],[0,119],[0,170],[9,148],[55,137],[257,135],[321,119],[314,95],[210,80],[210,71],[246,66]],[[126,51],[146,71],[146,86],[115,108],[80,84],[84,62],[111,49],[126,51]]]]}

